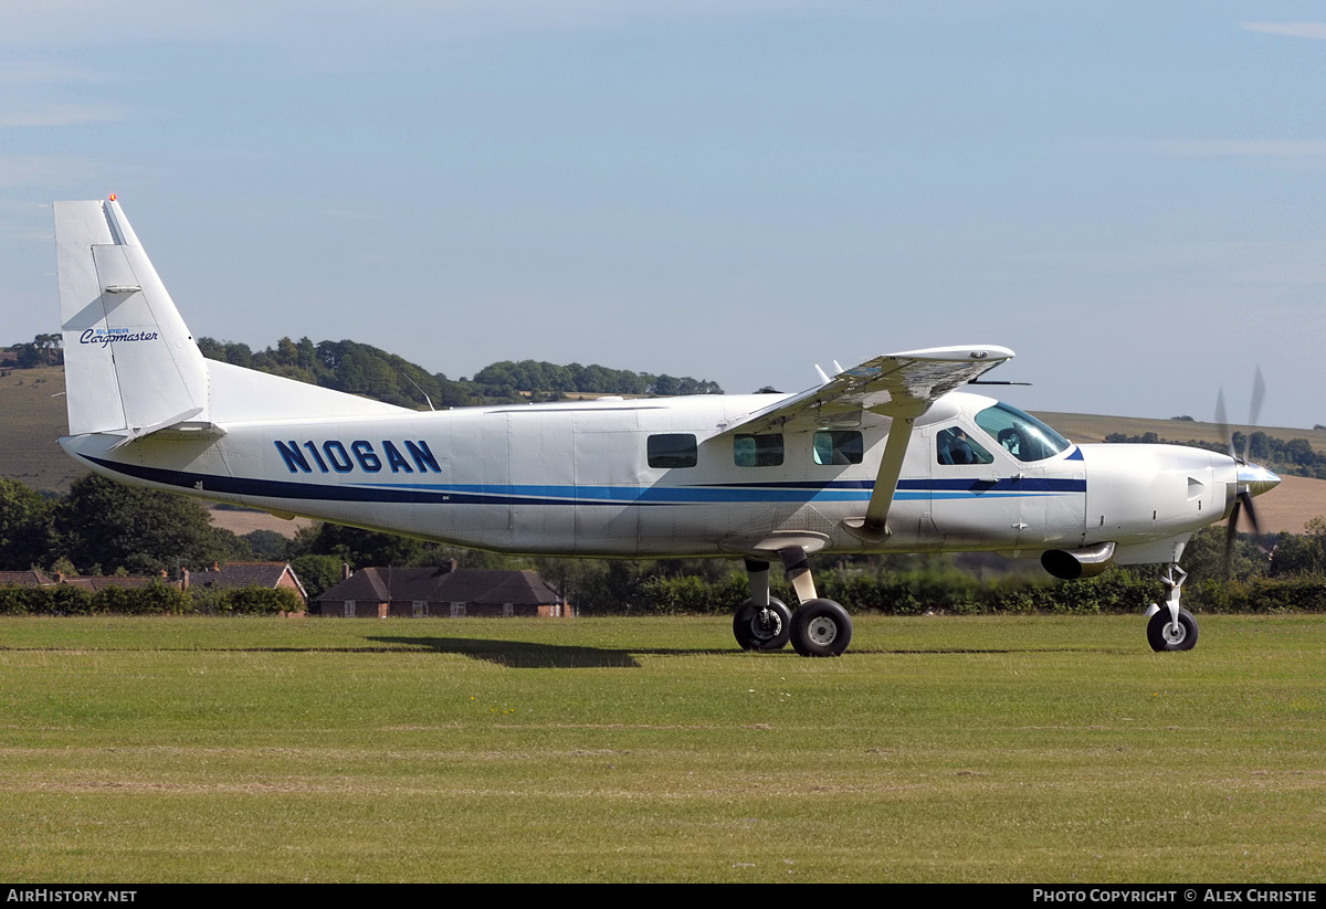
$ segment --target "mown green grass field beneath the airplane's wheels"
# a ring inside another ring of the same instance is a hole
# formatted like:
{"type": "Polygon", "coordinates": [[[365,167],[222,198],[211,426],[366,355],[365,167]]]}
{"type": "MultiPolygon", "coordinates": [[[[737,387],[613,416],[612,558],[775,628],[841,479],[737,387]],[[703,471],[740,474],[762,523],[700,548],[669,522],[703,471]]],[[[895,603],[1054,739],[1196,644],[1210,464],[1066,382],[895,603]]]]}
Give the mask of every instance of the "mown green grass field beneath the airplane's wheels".
{"type": "Polygon", "coordinates": [[[1326,619],[0,620],[0,880],[1322,881],[1326,619]]]}

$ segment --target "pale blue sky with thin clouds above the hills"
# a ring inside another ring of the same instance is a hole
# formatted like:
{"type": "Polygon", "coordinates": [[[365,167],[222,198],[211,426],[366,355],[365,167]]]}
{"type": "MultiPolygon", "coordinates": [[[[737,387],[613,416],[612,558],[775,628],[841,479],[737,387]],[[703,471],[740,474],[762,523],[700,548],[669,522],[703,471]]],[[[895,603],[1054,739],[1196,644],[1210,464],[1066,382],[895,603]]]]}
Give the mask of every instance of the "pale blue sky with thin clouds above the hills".
{"type": "Polygon", "coordinates": [[[0,342],[118,193],[195,334],[728,391],[996,343],[1032,409],[1326,423],[1317,3],[0,0],[0,342]]]}

